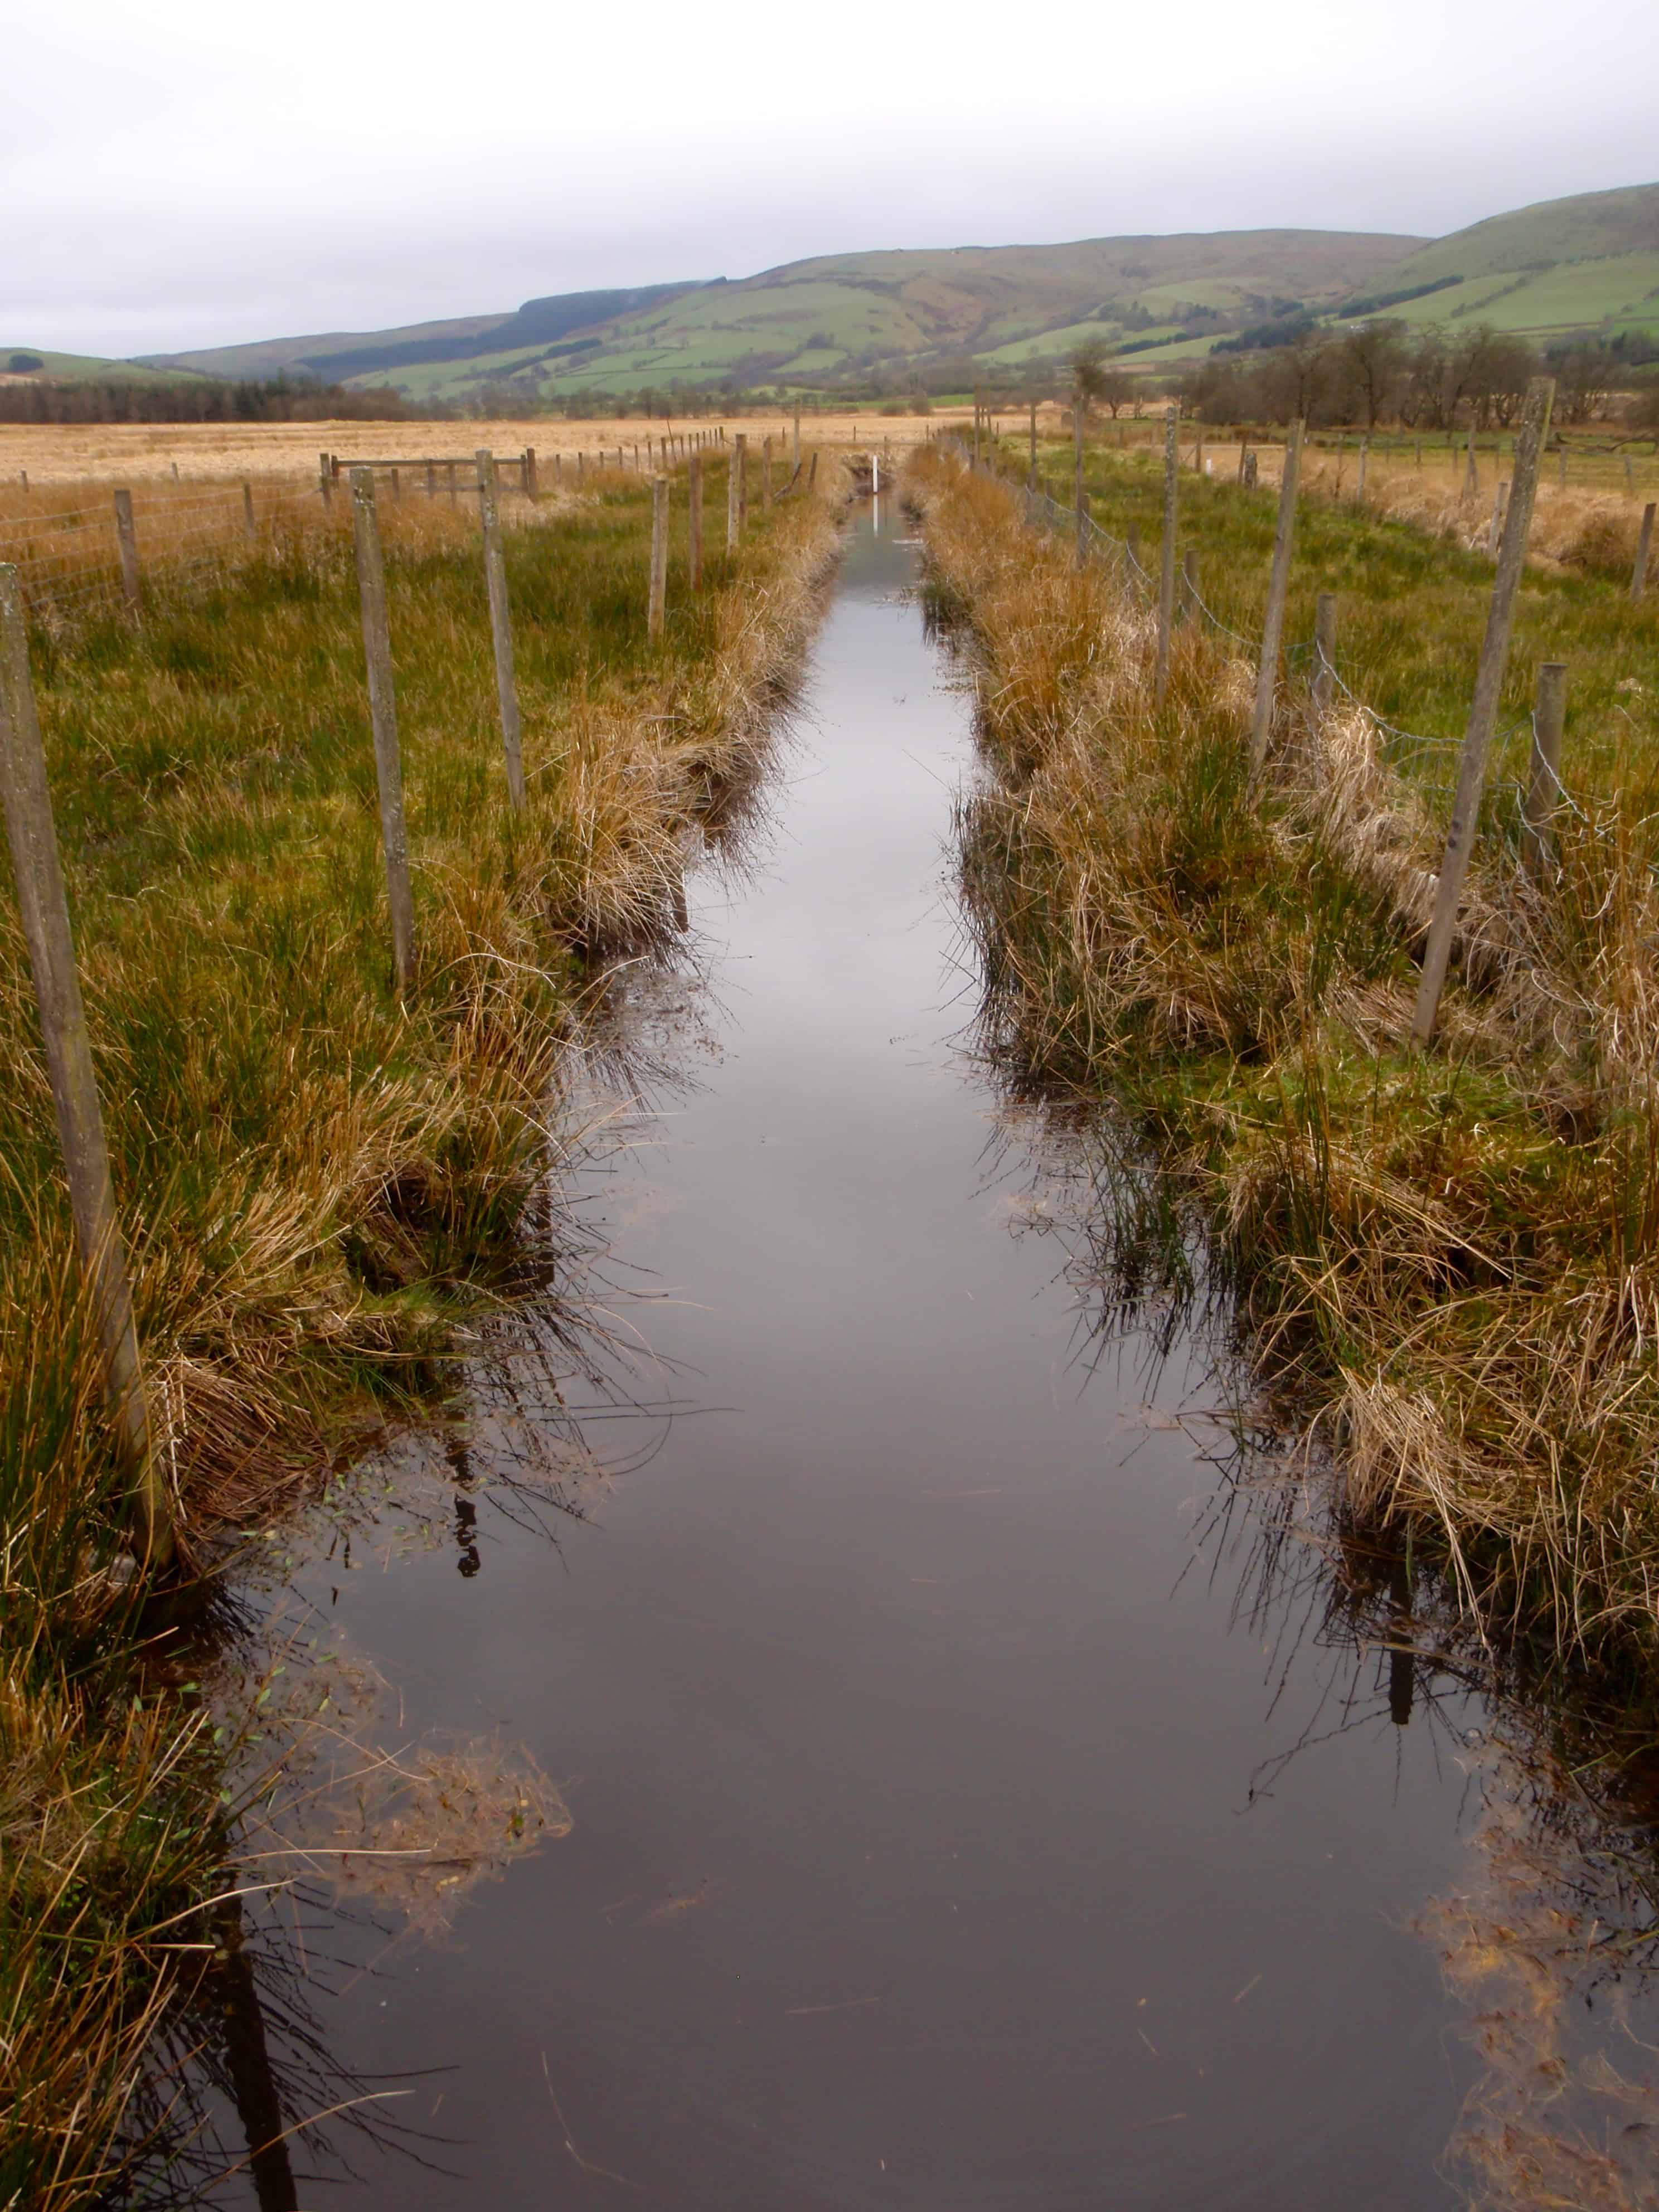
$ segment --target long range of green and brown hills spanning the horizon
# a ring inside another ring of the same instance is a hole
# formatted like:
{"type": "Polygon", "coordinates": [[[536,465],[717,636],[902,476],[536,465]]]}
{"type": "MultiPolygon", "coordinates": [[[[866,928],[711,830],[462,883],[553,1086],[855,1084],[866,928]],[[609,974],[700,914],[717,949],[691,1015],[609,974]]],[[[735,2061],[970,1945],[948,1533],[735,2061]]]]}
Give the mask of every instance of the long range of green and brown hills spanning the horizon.
{"type": "Polygon", "coordinates": [[[1471,319],[1535,336],[1659,332],[1659,184],[1546,199],[1447,239],[1217,230],[823,254],[739,281],[557,292],[513,312],[400,330],[314,332],[124,365],[46,354],[44,374],[288,369],[394,385],[418,405],[487,389],[535,400],[728,378],[834,387],[920,376],[960,389],[1064,358],[1093,336],[1157,369],[1252,325],[1360,314],[1453,327],[1471,319]]]}

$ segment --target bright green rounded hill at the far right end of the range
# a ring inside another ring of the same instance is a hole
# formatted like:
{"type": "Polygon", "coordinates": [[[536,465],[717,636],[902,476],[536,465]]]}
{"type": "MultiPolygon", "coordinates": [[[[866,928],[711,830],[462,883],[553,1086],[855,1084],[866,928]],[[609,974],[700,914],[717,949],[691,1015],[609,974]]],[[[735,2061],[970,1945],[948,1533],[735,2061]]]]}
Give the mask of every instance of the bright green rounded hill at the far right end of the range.
{"type": "Polygon", "coordinates": [[[1659,330],[1659,184],[1491,215],[1402,254],[1365,292],[1394,294],[1385,312],[1407,323],[1475,321],[1540,338],[1659,330]]]}

